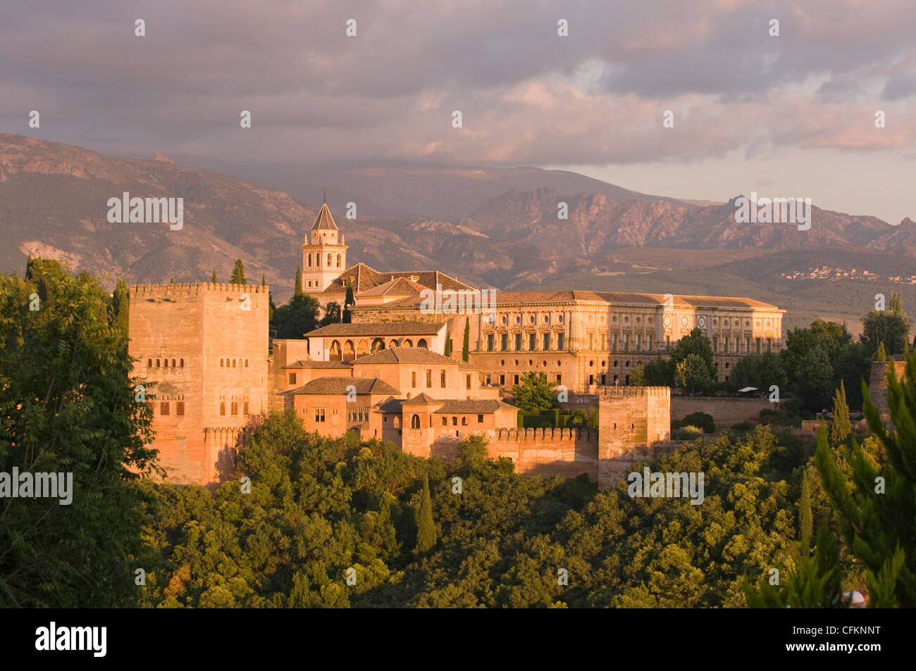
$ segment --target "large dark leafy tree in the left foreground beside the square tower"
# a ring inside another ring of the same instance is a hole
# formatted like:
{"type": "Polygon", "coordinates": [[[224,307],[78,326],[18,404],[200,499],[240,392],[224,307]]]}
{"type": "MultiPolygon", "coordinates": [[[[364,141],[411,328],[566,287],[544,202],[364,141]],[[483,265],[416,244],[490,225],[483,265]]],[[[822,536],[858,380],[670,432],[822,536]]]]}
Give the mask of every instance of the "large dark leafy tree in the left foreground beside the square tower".
{"type": "Polygon", "coordinates": [[[33,259],[30,275],[0,276],[0,472],[61,473],[68,492],[2,499],[0,607],[136,605],[151,411],[102,287],[56,261],[33,259]]]}

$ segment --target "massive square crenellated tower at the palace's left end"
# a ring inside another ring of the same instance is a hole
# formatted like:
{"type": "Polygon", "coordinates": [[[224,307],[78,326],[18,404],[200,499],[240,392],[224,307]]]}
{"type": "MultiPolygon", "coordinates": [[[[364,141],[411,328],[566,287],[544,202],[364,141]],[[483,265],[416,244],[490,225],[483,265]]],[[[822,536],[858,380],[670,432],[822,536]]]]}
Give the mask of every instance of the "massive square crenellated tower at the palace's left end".
{"type": "Polygon", "coordinates": [[[219,482],[231,471],[242,429],[267,410],[267,291],[130,288],[128,352],[138,359],[134,374],[152,390],[153,447],[169,480],[219,482]]]}

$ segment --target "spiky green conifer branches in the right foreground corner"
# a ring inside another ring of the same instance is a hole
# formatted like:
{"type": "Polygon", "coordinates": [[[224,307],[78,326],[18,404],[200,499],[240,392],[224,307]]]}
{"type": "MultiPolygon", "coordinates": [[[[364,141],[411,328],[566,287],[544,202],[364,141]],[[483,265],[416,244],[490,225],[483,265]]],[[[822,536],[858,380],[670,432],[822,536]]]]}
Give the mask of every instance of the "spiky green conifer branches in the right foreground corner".
{"type": "Polygon", "coordinates": [[[913,608],[916,536],[912,525],[901,524],[901,520],[916,519],[916,356],[906,356],[902,380],[893,370],[887,376],[891,430],[881,419],[867,385],[862,385],[868,427],[883,444],[886,460],[878,464],[855,438],[846,458],[830,449],[822,427],[815,462],[846,545],[867,568],[869,605],[913,608]],[[846,468],[844,460],[848,461],[846,468]],[[851,471],[851,476],[845,471],[851,471]]]}

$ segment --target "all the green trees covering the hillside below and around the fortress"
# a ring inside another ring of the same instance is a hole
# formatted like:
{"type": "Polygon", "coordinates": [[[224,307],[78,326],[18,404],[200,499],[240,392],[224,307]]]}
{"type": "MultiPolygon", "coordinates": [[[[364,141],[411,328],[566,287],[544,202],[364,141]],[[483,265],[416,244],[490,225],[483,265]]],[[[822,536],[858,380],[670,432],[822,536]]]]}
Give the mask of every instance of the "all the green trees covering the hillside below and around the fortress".
{"type": "Polygon", "coordinates": [[[584,477],[523,477],[480,437],[452,462],[322,438],[291,411],[259,420],[211,492],[141,477],[155,455],[129,379],[124,289],[111,296],[54,262],[0,276],[0,471],[73,471],[76,483],[69,506],[0,507],[0,606],[794,608],[849,590],[869,605],[916,601],[901,523],[916,516],[916,359],[902,382],[889,376],[893,431],[866,396],[870,431],[856,436],[835,394],[816,445],[733,427],[650,465],[704,473],[700,505],[631,498],[627,482],[597,492],[584,477]]]}

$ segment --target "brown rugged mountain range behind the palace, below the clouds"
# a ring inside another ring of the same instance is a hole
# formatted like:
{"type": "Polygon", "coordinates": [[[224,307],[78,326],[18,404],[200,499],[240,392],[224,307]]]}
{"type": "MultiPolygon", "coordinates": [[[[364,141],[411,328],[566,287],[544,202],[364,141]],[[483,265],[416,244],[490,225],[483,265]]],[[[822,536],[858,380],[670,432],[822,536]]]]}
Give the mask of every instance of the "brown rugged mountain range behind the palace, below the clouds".
{"type": "MultiPolygon", "coordinates": [[[[285,179],[295,187],[292,197],[182,167],[162,155],[105,157],[78,146],[0,135],[5,237],[0,268],[21,271],[27,254],[42,255],[67,261],[73,270],[87,269],[113,286],[117,277],[141,283],[209,280],[213,268],[227,281],[234,259],[241,258],[248,281],[263,274],[278,300],[284,299],[291,294],[300,244],[317,212],[309,202],[321,189],[298,182],[297,171],[279,177],[262,172],[260,182],[276,187],[285,179]],[[183,198],[184,229],[107,222],[107,200],[124,191],[183,198]]],[[[306,177],[319,181],[313,174],[306,177]]],[[[916,223],[910,219],[890,226],[875,217],[815,206],[806,232],[793,224],[742,224],[735,222],[734,199],[685,202],[562,170],[376,167],[347,168],[332,177],[328,200],[349,245],[348,265],[363,262],[379,271],[437,268],[481,287],[638,288],[652,277],[664,276],[670,284],[678,268],[686,268],[690,275],[682,276],[694,282],[693,293],[706,286],[710,293],[729,294],[734,293],[729,284],[738,283],[723,281],[722,273],[740,272],[740,264],[703,279],[705,271],[694,260],[702,257],[705,268],[748,254],[797,250],[790,258],[804,259],[804,250],[816,250],[819,257],[835,250],[831,254],[845,259],[858,250],[869,259],[888,259],[874,265],[893,265],[895,259],[916,256],[916,223]],[[354,220],[345,214],[350,201],[358,206],[354,220]],[[558,218],[561,202],[567,219],[558,218]],[[402,214],[391,214],[396,211],[402,214]],[[671,253],[664,254],[666,249],[671,253]],[[722,254],[710,260],[711,250],[722,254]],[[663,260],[627,265],[627,258],[640,254],[663,260]]],[[[766,283],[759,293],[767,295],[752,298],[779,304],[780,294],[772,293],[775,280],[758,273],[754,281],[766,283]]],[[[796,290],[791,287],[786,290],[796,290]]]]}

